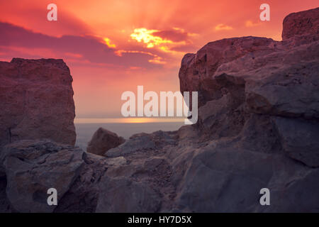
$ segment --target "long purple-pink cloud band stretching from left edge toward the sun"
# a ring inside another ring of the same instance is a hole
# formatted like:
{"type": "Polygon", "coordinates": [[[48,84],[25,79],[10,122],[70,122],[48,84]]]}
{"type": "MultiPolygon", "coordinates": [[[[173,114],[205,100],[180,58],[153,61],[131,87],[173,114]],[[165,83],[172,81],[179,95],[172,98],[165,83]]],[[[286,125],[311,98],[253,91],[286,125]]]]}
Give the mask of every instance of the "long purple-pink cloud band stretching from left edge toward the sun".
{"type": "Polygon", "coordinates": [[[47,57],[71,58],[74,61],[91,62],[96,64],[114,65],[116,67],[145,67],[164,64],[159,55],[143,51],[118,50],[109,38],[99,38],[92,35],[62,35],[52,37],[41,33],[34,33],[10,23],[0,23],[1,51],[15,50],[26,55],[41,51],[50,53],[47,57]],[[11,49],[9,49],[11,48],[11,49]],[[118,51],[122,51],[118,55],[118,51]]]}

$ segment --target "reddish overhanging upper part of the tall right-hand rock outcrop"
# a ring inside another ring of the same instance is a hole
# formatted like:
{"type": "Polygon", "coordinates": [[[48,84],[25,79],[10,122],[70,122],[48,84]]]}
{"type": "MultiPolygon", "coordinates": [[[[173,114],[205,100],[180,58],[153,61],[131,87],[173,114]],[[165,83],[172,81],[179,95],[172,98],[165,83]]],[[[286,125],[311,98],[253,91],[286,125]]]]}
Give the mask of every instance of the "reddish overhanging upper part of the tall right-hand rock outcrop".
{"type": "Polygon", "coordinates": [[[318,118],[318,14],[319,8],[291,14],[284,21],[284,33],[310,37],[306,43],[296,43],[296,36],[283,42],[228,38],[185,55],[179,70],[181,92],[198,91],[199,106],[229,94],[237,103],[246,97],[247,105],[258,114],[318,118]],[[291,28],[290,21],[302,25],[303,18],[310,29],[291,28]]]}

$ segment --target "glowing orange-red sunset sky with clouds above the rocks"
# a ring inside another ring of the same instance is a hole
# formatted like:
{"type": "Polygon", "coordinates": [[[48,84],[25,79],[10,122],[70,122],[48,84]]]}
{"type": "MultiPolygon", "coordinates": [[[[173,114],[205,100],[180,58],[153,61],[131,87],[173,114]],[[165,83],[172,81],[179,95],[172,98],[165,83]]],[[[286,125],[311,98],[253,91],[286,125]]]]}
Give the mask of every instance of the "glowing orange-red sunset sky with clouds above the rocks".
{"type": "Polygon", "coordinates": [[[289,13],[318,0],[0,0],[0,60],[62,58],[74,79],[77,118],[121,117],[121,94],[179,91],[182,57],[247,35],[281,40],[289,13]],[[48,4],[57,21],[47,20],[48,4]],[[270,21],[260,21],[261,4],[270,21]]]}

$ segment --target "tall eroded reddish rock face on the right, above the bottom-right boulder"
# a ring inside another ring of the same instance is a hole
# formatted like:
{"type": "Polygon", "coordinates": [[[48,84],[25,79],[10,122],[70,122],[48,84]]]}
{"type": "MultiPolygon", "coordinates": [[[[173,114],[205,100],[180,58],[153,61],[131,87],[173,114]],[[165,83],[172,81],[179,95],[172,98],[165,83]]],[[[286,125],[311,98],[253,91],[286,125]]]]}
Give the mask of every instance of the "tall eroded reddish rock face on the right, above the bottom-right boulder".
{"type": "Polygon", "coordinates": [[[318,167],[318,15],[319,8],[287,16],[281,42],[230,38],[185,55],[181,91],[198,91],[198,127],[206,137],[238,135],[241,148],[284,150],[318,167]]]}

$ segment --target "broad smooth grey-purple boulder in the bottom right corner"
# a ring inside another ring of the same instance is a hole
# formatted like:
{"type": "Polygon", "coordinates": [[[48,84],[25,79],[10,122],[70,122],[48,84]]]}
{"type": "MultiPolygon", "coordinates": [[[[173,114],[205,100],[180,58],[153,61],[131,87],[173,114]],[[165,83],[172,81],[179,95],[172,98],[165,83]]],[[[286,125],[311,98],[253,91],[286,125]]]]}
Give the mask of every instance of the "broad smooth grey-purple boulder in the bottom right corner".
{"type": "Polygon", "coordinates": [[[212,143],[186,162],[190,165],[181,178],[175,202],[179,211],[318,211],[319,170],[298,165],[283,155],[212,143]],[[271,192],[271,206],[259,204],[259,191],[264,187],[271,192]]]}

